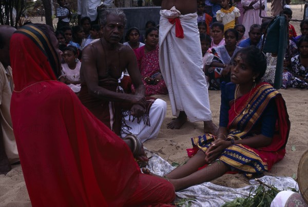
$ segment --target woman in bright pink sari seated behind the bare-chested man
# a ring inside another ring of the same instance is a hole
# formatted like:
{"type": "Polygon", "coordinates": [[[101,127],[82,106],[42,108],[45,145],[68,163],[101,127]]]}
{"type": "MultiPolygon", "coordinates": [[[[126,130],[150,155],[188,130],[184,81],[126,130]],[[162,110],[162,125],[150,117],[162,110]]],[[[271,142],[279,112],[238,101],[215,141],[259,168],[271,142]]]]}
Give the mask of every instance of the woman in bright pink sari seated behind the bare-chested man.
{"type": "MultiPolygon", "coordinates": [[[[167,86],[160,72],[158,60],[158,29],[149,28],[145,33],[145,46],[135,50],[137,63],[145,85],[145,95],[167,94],[167,86]]],[[[134,92],[133,85],[131,91],[134,92]]]]}

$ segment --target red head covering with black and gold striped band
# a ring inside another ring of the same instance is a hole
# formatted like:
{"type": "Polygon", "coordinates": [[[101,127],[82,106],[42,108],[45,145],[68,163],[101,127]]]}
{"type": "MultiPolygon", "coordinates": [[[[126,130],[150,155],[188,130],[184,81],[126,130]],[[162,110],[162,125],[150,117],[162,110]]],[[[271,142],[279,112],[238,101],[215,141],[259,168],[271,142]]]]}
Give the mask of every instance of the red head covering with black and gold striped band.
{"type": "Polygon", "coordinates": [[[33,24],[14,32],[10,41],[14,91],[21,91],[35,82],[57,79],[60,59],[46,33],[33,24]]]}

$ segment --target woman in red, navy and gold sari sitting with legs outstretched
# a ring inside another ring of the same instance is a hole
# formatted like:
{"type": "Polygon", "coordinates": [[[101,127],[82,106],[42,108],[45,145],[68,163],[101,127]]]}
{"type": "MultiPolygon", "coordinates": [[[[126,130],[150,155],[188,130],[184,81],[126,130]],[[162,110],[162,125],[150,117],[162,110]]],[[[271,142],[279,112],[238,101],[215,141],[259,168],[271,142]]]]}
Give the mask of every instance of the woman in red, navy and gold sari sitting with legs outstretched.
{"type": "Polygon", "coordinates": [[[176,191],[213,180],[228,171],[262,174],[284,157],[290,121],[281,94],[260,79],[266,57],[255,46],[233,59],[231,81],[222,85],[217,136],[192,138],[188,162],[165,177],[176,191]],[[207,167],[198,171],[205,164],[207,167]]]}

